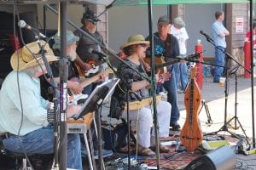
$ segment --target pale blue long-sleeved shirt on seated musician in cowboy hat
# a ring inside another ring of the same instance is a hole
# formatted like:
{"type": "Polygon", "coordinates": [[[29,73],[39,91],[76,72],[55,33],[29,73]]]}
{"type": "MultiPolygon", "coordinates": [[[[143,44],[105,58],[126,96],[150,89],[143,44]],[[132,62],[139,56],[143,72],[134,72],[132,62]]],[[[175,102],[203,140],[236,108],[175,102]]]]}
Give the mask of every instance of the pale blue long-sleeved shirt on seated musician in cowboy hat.
{"type": "MultiPolygon", "coordinates": [[[[20,71],[19,84],[23,107],[23,122],[20,129],[22,136],[48,125],[46,108],[49,102],[41,96],[38,78],[20,71]]],[[[20,96],[17,72],[12,71],[5,78],[0,90],[0,133],[18,134],[21,123],[20,96]]]]}

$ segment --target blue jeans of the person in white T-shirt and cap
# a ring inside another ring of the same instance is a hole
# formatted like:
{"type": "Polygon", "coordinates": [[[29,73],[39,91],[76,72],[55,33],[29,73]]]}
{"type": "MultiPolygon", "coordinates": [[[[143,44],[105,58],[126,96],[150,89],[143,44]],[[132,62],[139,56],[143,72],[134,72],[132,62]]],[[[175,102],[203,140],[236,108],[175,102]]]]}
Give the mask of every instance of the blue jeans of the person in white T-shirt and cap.
{"type": "Polygon", "coordinates": [[[175,71],[176,84],[178,87],[179,81],[181,82],[181,89],[185,90],[188,83],[188,66],[186,63],[177,63],[173,65],[175,71]]]}

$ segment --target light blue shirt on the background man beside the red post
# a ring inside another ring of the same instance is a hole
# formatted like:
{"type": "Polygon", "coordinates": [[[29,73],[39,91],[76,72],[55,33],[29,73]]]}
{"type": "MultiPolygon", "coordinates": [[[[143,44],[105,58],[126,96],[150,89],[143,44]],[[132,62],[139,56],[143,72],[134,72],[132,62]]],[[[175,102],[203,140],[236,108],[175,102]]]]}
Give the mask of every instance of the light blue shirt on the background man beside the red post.
{"type": "Polygon", "coordinates": [[[222,22],[219,22],[218,20],[215,20],[215,22],[212,24],[212,38],[213,41],[217,46],[221,46],[223,48],[227,47],[226,44],[226,38],[225,37],[219,37],[219,34],[224,33],[224,31],[227,31],[227,29],[223,26],[222,22]]]}

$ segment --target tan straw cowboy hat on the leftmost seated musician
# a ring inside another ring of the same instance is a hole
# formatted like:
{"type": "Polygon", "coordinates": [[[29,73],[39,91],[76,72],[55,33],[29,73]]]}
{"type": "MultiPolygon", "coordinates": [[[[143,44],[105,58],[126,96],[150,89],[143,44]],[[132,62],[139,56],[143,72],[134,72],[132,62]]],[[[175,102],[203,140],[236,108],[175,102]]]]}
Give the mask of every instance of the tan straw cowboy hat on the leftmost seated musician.
{"type": "MultiPolygon", "coordinates": [[[[44,46],[46,42],[40,41],[39,43],[42,46],[44,46]]],[[[40,50],[41,49],[38,46],[38,42],[31,42],[26,44],[26,46],[24,46],[23,48],[20,48],[17,51],[15,51],[15,53],[11,56],[11,59],[10,59],[10,64],[14,69],[14,71],[23,71],[26,68],[29,68],[35,65],[39,65],[39,64],[43,65],[44,62],[41,57],[40,50]]],[[[45,45],[44,50],[45,50],[44,54],[48,62],[58,60],[58,57],[56,57],[53,51],[51,50],[51,48],[49,48],[49,44],[45,45]]]]}

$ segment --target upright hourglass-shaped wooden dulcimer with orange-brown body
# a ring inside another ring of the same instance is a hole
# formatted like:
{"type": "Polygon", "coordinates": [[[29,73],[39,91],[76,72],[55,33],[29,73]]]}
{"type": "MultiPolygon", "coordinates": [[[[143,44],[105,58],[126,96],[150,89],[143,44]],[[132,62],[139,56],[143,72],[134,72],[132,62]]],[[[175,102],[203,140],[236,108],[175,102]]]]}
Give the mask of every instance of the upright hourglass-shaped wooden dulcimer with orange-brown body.
{"type": "Polygon", "coordinates": [[[180,140],[189,151],[194,151],[202,142],[201,125],[198,119],[201,105],[201,92],[195,79],[195,68],[191,69],[189,85],[185,90],[184,103],[187,111],[186,121],[180,132],[180,140]]]}

